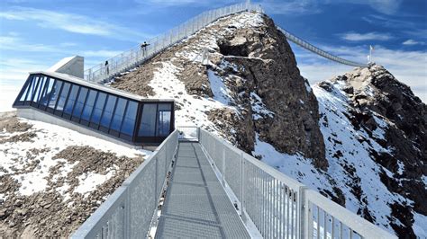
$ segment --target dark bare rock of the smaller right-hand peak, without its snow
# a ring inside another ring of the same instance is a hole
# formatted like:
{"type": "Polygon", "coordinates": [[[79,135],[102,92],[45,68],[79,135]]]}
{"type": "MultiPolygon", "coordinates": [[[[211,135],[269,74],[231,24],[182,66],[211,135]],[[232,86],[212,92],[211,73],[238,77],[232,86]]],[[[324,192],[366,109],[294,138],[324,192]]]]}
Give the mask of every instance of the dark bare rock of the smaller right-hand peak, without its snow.
{"type": "MultiPolygon", "coordinates": [[[[413,201],[389,205],[391,216],[399,219],[390,225],[399,236],[415,237],[412,211],[427,215],[427,190],[422,182],[427,175],[426,104],[383,66],[356,68],[331,83],[341,85],[346,94],[350,104],[347,117],[353,127],[368,132],[378,145],[389,149],[370,151],[370,157],[386,169],[380,173],[381,181],[389,191],[413,201]],[[376,119],[387,123],[379,125],[376,119]],[[385,131],[384,137],[377,136],[377,128],[385,131]]],[[[331,83],[319,86],[332,91],[331,83]]]]}

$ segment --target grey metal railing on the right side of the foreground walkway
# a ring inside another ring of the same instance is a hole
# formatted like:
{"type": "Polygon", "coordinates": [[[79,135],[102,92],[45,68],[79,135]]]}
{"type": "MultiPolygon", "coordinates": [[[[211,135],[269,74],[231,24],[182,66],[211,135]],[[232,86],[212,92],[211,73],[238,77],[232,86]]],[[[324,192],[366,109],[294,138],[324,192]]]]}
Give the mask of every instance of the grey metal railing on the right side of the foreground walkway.
{"type": "Polygon", "coordinates": [[[200,129],[199,142],[265,238],[395,238],[395,235],[341,207],[304,184],[278,172],[200,129]]]}

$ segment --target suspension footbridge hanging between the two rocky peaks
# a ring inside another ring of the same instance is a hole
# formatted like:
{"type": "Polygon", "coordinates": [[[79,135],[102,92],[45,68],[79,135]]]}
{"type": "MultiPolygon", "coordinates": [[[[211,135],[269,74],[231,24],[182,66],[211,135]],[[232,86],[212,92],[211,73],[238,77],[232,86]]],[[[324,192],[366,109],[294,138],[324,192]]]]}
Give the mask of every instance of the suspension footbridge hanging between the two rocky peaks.
{"type": "Polygon", "coordinates": [[[332,61],[341,63],[343,65],[347,65],[347,66],[359,66],[359,67],[368,66],[367,64],[363,64],[363,63],[359,63],[359,62],[355,62],[355,61],[350,61],[350,60],[346,60],[344,58],[339,58],[339,57],[333,56],[331,53],[328,53],[328,52],[324,51],[323,49],[319,49],[317,47],[314,47],[312,44],[308,43],[307,41],[296,37],[294,34],[290,33],[289,31],[286,31],[280,27],[277,27],[277,29],[279,31],[283,32],[283,34],[286,36],[287,40],[290,40],[290,41],[294,42],[296,45],[298,45],[304,49],[308,49],[308,50],[312,51],[313,53],[315,53],[315,54],[317,54],[323,58],[328,58],[332,61]]]}

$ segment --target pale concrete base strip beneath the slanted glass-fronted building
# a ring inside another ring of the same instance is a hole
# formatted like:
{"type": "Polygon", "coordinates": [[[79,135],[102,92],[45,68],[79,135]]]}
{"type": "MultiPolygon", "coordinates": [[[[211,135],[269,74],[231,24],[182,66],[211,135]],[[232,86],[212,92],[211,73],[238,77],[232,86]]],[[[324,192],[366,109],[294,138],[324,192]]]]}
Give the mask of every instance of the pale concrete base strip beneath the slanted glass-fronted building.
{"type": "Polygon", "coordinates": [[[58,126],[61,126],[64,128],[69,128],[69,129],[75,130],[79,133],[85,134],[87,136],[98,137],[98,138],[104,139],[106,141],[109,141],[109,142],[112,142],[114,144],[121,145],[121,146],[127,146],[130,148],[137,148],[137,149],[144,148],[144,149],[152,150],[152,151],[157,148],[157,146],[149,146],[150,149],[148,147],[144,147],[144,146],[135,146],[135,145],[129,144],[127,142],[124,142],[118,138],[114,138],[114,137],[106,135],[102,132],[95,131],[93,128],[88,128],[85,126],[78,125],[77,123],[74,123],[72,121],[68,121],[68,120],[59,118],[55,115],[51,115],[49,113],[46,113],[44,111],[39,111],[37,109],[18,108],[16,110],[16,114],[18,117],[22,117],[22,118],[25,118],[28,120],[38,120],[38,121],[42,121],[45,123],[58,125],[58,126]]]}

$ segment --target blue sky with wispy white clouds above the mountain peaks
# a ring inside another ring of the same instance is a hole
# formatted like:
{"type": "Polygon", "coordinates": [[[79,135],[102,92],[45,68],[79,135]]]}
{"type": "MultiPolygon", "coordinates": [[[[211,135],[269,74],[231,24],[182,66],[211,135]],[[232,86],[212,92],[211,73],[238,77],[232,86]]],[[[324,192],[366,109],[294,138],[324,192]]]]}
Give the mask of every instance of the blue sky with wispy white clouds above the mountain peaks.
{"type": "MultiPolygon", "coordinates": [[[[205,10],[242,1],[205,0],[1,0],[0,103],[28,72],[59,59],[85,57],[93,66],[186,22],[205,10]]],[[[261,0],[287,31],[350,60],[374,61],[427,102],[427,1],[261,0]],[[357,4],[355,4],[355,2],[357,4]]],[[[312,83],[351,69],[293,45],[302,74],[312,83]]]]}

